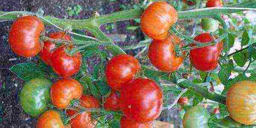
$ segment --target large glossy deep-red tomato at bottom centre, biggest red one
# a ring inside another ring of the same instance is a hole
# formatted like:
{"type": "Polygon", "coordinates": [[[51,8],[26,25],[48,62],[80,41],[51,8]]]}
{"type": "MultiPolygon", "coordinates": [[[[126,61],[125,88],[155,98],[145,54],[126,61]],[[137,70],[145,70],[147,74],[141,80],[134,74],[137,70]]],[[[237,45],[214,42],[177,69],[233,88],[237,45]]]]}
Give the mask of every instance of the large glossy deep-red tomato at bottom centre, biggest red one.
{"type": "Polygon", "coordinates": [[[120,108],[128,119],[139,123],[156,119],[163,107],[163,93],[151,79],[135,79],[121,91],[120,108]]]}

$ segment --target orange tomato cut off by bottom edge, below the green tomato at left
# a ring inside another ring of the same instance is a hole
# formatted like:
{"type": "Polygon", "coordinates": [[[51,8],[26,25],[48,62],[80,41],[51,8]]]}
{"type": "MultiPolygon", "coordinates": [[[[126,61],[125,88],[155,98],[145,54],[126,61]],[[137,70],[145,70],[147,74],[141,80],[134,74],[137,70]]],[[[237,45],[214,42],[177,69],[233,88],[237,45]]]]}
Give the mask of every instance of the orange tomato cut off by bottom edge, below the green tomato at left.
{"type": "Polygon", "coordinates": [[[48,110],[38,118],[36,128],[70,128],[70,126],[63,124],[58,111],[48,110]]]}

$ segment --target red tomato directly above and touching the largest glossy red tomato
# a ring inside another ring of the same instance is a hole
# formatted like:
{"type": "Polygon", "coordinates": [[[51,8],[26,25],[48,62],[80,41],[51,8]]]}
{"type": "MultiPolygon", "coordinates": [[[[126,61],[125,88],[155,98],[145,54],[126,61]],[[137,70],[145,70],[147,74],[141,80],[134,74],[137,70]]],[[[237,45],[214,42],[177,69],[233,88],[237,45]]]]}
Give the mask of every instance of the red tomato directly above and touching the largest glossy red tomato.
{"type": "Polygon", "coordinates": [[[106,79],[108,85],[120,91],[140,71],[139,61],[131,55],[116,55],[106,66],[106,79]]]}

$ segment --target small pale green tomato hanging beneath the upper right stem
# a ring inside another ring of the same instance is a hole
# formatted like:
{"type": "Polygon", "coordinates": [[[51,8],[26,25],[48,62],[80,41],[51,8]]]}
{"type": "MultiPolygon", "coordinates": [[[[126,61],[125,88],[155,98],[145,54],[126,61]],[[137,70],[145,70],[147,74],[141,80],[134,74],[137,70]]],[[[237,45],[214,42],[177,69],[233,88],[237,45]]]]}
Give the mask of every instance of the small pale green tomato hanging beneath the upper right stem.
{"type": "Polygon", "coordinates": [[[218,21],[211,18],[202,19],[202,28],[206,32],[215,32],[218,29],[218,21]]]}

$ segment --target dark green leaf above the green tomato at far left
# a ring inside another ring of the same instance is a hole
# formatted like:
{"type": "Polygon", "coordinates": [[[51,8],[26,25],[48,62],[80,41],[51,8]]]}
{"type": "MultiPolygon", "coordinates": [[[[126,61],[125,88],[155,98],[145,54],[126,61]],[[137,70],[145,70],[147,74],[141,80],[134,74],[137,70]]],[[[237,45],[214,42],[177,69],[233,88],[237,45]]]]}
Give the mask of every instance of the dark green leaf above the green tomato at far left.
{"type": "Polygon", "coordinates": [[[24,81],[45,76],[44,71],[34,63],[16,64],[12,66],[10,70],[24,81]]]}

